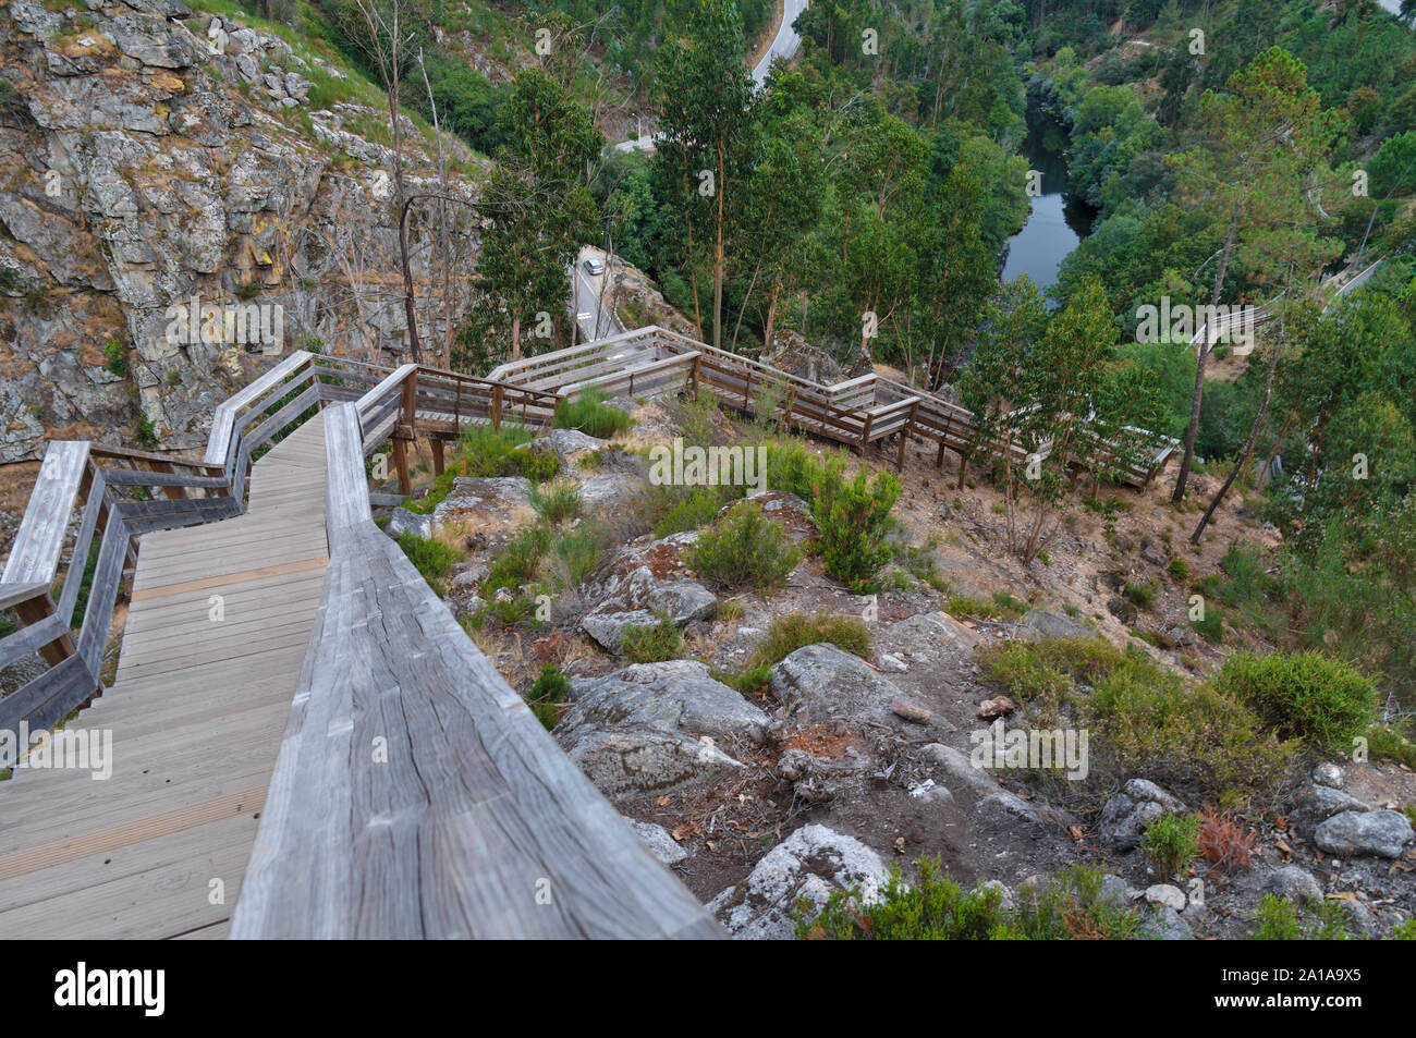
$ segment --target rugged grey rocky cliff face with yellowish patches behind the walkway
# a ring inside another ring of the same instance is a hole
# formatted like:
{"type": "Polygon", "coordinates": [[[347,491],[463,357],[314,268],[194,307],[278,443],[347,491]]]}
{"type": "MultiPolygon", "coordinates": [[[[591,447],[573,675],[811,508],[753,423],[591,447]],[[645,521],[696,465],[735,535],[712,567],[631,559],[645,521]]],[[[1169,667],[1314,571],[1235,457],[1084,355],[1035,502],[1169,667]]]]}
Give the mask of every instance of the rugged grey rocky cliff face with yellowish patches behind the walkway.
{"type": "MultiPolygon", "coordinates": [[[[316,51],[180,0],[0,7],[0,462],[48,438],[200,446],[279,351],[398,360],[378,101],[316,51]]],[[[405,130],[409,193],[438,190],[432,143],[405,130]]],[[[443,279],[464,286],[476,246],[470,212],[445,211],[453,248],[426,210],[409,224],[438,344],[466,304],[443,313],[443,279]]]]}

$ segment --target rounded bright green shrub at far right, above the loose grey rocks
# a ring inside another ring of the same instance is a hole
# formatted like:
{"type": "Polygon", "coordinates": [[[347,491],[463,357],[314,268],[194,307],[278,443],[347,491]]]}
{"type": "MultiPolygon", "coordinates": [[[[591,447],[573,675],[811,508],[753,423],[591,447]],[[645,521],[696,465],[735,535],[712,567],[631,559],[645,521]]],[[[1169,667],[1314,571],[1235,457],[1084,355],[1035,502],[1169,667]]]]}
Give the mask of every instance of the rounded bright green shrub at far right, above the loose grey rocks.
{"type": "Polygon", "coordinates": [[[1376,712],[1376,688],[1351,664],[1318,653],[1229,657],[1215,687],[1247,704],[1286,739],[1347,752],[1376,712]]]}

